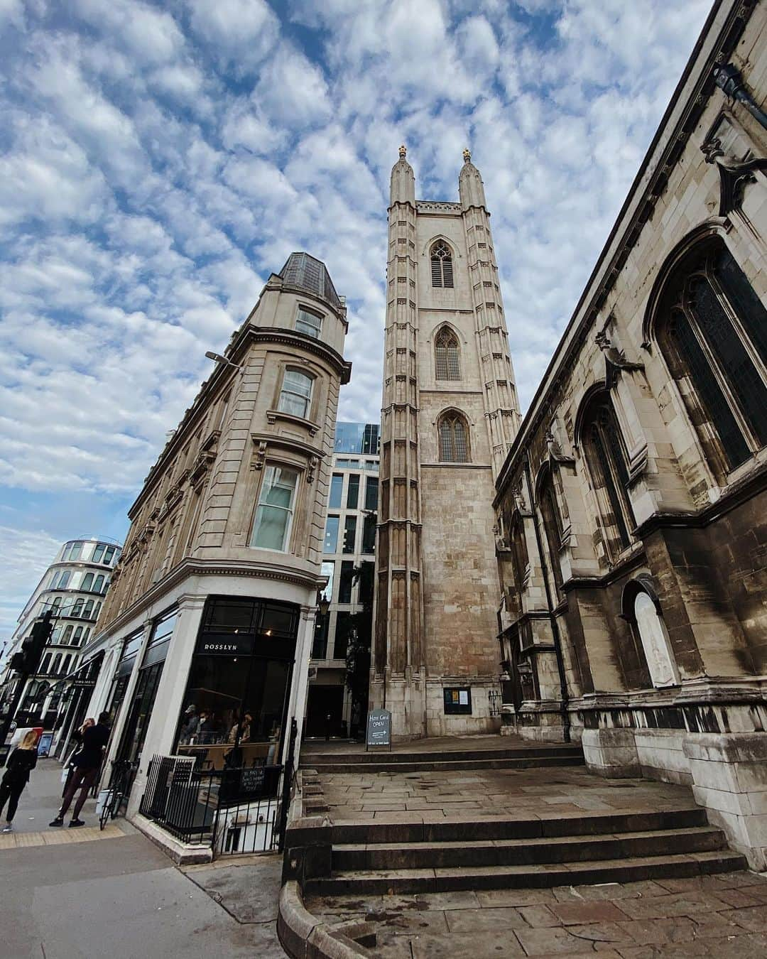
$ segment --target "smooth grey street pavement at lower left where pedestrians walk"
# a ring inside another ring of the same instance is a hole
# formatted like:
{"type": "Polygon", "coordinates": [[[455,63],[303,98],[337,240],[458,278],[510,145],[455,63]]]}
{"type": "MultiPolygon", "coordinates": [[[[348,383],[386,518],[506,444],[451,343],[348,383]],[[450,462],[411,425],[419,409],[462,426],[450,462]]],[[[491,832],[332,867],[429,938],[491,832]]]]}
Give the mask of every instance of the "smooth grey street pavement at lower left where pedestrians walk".
{"type": "Polygon", "coordinates": [[[58,762],[40,761],[16,832],[0,837],[13,841],[0,846],[3,959],[284,959],[280,856],[180,870],[122,819],[101,832],[92,800],[86,827],[49,829],[59,776],[58,762]]]}

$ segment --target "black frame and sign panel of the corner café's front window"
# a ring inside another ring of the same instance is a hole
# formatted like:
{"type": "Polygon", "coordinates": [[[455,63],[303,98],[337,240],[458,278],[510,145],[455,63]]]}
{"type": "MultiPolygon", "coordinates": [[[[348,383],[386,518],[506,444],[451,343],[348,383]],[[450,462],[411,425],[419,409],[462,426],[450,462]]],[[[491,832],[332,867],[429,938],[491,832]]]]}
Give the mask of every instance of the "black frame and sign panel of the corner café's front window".
{"type": "MultiPolygon", "coordinates": [[[[291,731],[288,728],[288,713],[291,702],[291,689],[295,667],[295,655],[298,645],[298,627],[300,622],[300,606],[284,600],[267,599],[258,596],[208,596],[202,612],[195,648],[189,661],[181,709],[178,714],[174,734],[174,754],[181,745],[180,738],[184,724],[186,703],[190,693],[195,662],[198,657],[221,656],[243,658],[247,660],[247,676],[243,684],[244,693],[238,702],[237,712],[241,719],[244,716],[247,691],[253,675],[253,665],[259,660],[275,660],[288,664],[285,679],[285,692],[280,721],[279,751],[274,756],[273,763],[280,764],[290,746],[291,731]],[[215,612],[218,608],[240,607],[240,611],[250,607],[250,618],[247,622],[225,624],[215,621],[215,612]],[[278,612],[291,617],[291,627],[281,629],[268,620],[269,612],[278,612]]],[[[241,730],[238,728],[234,742],[227,743],[231,747],[239,748],[241,730]]]]}

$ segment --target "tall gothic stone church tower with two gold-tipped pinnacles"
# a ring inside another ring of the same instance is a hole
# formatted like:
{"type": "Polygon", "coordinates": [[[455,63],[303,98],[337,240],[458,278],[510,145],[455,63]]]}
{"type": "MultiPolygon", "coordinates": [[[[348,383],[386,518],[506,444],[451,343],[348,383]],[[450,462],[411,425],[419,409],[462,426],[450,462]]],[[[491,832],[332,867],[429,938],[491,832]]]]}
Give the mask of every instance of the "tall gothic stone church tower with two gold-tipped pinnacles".
{"type": "Polygon", "coordinates": [[[371,708],[395,737],[496,728],[494,482],[518,410],[484,187],[415,199],[391,172],[371,708]]]}

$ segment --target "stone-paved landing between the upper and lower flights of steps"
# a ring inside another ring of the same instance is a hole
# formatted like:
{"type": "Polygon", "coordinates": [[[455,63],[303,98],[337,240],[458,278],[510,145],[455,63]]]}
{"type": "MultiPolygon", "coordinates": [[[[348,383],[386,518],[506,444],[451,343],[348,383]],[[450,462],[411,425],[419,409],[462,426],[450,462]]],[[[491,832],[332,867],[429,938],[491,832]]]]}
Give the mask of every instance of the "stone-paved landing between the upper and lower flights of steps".
{"type": "Polygon", "coordinates": [[[686,786],[647,780],[604,780],[580,766],[482,769],[472,772],[320,773],[328,815],[342,820],[433,816],[577,815],[690,806],[686,786]]]}

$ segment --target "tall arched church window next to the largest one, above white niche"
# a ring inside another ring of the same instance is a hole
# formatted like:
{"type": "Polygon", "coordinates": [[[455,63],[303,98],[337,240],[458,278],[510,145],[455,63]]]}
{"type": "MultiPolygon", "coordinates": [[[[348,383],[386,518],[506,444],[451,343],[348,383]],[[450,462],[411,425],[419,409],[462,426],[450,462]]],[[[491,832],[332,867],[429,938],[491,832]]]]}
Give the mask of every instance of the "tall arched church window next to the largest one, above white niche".
{"type": "Polygon", "coordinates": [[[631,543],[634,513],[626,487],[629,471],[623,436],[607,393],[593,398],[581,429],[584,452],[605,531],[605,547],[611,555],[631,543]]]}

